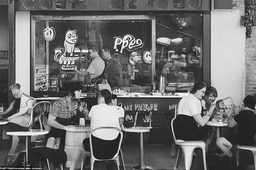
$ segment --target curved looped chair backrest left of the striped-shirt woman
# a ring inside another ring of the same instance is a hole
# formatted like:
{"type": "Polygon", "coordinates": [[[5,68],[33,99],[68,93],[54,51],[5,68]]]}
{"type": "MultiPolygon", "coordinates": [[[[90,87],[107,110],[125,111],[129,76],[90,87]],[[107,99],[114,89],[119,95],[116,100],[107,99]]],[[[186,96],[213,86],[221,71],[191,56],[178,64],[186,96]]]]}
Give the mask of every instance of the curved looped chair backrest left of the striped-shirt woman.
{"type": "Polygon", "coordinates": [[[42,119],[43,119],[43,116],[44,114],[47,112],[47,110],[49,111],[50,107],[51,107],[51,103],[48,102],[48,101],[41,101],[41,102],[38,102],[36,103],[32,109],[31,109],[31,115],[30,115],[30,122],[29,122],[29,125],[28,125],[28,130],[32,130],[32,126],[33,124],[36,122],[36,121],[39,121],[39,124],[40,124],[40,130],[42,131],[43,130],[43,124],[42,124],[42,119]],[[33,115],[34,115],[34,112],[35,112],[35,108],[37,108],[38,110],[38,116],[36,118],[33,119],[33,115]]]}

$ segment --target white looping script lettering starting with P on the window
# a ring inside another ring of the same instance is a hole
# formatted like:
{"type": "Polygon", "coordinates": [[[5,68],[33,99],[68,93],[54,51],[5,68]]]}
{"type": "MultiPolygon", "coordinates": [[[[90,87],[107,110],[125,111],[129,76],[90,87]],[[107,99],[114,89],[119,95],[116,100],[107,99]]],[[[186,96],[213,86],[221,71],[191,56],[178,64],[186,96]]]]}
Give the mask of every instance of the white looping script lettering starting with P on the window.
{"type": "Polygon", "coordinates": [[[133,51],[138,48],[143,47],[143,42],[141,39],[135,39],[132,35],[127,34],[123,38],[122,37],[114,37],[114,49],[118,52],[117,46],[121,45],[120,53],[123,53],[124,48],[127,47],[128,51],[133,51]]]}

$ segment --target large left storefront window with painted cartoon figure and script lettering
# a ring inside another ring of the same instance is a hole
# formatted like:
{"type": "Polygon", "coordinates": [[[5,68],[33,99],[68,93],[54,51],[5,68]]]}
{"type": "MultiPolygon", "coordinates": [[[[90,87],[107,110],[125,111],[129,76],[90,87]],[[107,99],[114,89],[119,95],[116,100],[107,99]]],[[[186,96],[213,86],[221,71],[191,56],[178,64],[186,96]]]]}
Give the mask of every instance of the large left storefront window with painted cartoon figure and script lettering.
{"type": "Polygon", "coordinates": [[[109,61],[105,57],[105,52],[108,53],[106,48],[102,52],[102,46],[106,45],[110,48],[111,57],[117,60],[117,64],[108,69],[120,67],[118,71],[106,71],[104,75],[111,88],[136,88],[140,89],[137,92],[150,92],[154,17],[102,18],[34,16],[34,91],[62,92],[65,82],[72,80],[90,85],[93,78],[103,76],[109,61]],[[98,49],[105,64],[103,68],[102,64],[94,65],[95,70],[101,70],[94,71],[96,76],[90,76],[93,73],[79,76],[76,70],[87,70],[92,62],[88,57],[90,47],[98,49]]]}

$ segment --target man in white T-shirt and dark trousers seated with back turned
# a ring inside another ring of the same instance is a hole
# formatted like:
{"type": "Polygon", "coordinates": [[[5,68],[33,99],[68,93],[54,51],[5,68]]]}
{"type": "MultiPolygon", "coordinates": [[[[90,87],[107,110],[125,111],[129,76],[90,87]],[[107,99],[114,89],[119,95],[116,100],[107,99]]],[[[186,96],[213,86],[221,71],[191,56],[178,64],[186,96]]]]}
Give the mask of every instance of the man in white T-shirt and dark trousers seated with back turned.
{"type": "MultiPolygon", "coordinates": [[[[91,108],[89,120],[91,130],[100,127],[123,128],[124,110],[118,106],[109,106],[111,102],[111,90],[102,89],[99,91],[98,105],[91,108]]],[[[116,130],[101,129],[93,133],[92,141],[95,146],[94,156],[98,159],[112,158],[116,153],[120,141],[120,134],[116,130]]],[[[90,151],[89,138],[83,141],[84,148],[90,151]]]]}

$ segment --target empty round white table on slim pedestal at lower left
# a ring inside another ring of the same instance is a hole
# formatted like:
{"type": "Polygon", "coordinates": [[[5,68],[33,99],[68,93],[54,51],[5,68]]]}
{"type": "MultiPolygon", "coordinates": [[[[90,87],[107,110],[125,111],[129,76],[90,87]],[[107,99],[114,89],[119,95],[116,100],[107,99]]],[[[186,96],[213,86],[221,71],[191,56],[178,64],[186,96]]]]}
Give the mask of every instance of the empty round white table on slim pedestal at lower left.
{"type": "Polygon", "coordinates": [[[24,165],[30,165],[31,156],[31,136],[44,135],[49,133],[47,130],[28,130],[28,131],[8,131],[7,135],[12,136],[26,136],[26,163],[24,165]]]}

